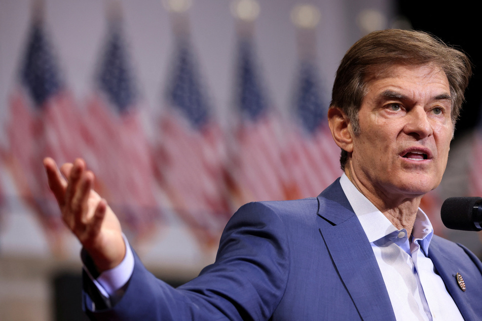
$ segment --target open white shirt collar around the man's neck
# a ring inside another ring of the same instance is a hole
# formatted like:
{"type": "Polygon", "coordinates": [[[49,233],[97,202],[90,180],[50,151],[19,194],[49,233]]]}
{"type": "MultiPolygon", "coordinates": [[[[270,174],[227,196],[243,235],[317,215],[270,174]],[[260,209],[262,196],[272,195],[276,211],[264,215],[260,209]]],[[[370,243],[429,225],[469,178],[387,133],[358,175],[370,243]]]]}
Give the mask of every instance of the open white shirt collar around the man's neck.
{"type": "MultiPolygon", "coordinates": [[[[340,179],[340,184],[370,243],[398,231],[388,218],[353,185],[345,173],[340,179]]],[[[427,215],[420,208],[417,211],[412,235],[413,240],[420,244],[427,256],[433,228],[427,215]]]]}

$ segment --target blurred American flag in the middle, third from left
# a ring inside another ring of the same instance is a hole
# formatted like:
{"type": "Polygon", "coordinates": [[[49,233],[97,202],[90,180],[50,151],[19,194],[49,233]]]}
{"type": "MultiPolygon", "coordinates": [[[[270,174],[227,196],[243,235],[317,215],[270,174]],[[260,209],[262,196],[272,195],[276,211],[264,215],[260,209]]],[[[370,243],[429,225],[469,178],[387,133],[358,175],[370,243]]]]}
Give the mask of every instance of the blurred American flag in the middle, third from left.
{"type": "Polygon", "coordinates": [[[178,34],[160,119],[157,173],[171,207],[202,245],[230,216],[223,133],[208,104],[189,36],[178,34]]]}

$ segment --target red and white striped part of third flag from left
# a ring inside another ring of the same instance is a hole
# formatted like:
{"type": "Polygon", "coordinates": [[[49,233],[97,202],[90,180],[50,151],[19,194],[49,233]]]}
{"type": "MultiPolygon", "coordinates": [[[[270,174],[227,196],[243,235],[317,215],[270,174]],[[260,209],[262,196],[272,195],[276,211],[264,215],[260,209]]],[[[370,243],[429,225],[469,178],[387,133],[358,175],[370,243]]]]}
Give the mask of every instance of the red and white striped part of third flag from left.
{"type": "Polygon", "coordinates": [[[156,166],[173,209],[192,228],[217,236],[230,213],[219,127],[210,123],[197,130],[168,110],[161,118],[160,137],[156,166]]]}

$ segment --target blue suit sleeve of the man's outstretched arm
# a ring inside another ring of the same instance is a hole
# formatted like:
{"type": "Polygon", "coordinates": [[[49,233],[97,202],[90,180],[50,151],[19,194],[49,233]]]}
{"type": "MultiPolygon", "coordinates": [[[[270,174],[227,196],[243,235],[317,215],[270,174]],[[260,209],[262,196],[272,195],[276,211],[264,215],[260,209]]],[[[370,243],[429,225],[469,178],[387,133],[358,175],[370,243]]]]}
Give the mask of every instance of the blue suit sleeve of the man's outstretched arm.
{"type": "MultiPolygon", "coordinates": [[[[279,304],[289,257],[280,216],[263,203],[239,209],[221,236],[216,261],[174,289],[145,269],[135,256],[122,299],[110,309],[87,311],[98,320],[264,320],[279,304]]],[[[92,288],[84,278],[84,302],[92,288]]]]}

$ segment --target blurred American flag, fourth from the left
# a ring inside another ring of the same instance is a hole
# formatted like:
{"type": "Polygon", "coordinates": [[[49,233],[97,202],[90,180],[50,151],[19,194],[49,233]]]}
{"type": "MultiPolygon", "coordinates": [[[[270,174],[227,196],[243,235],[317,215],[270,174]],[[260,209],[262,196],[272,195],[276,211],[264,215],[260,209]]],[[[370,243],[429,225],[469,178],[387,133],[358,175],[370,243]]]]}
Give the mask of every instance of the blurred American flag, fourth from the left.
{"type": "Polygon", "coordinates": [[[228,161],[232,197],[236,206],[285,199],[281,116],[268,101],[250,36],[239,39],[236,68],[235,124],[228,161]]]}

